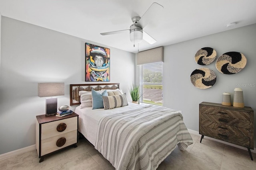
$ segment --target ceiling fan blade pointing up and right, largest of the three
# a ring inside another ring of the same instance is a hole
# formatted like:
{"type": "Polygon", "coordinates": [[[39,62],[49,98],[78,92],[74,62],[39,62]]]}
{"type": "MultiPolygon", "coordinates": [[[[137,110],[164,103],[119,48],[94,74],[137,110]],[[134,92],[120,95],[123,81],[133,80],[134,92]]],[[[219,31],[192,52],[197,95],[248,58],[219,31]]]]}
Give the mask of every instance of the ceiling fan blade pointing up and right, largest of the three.
{"type": "Polygon", "coordinates": [[[143,16],[140,18],[136,25],[138,25],[141,28],[146,27],[150,20],[155,20],[158,17],[160,11],[162,11],[163,8],[164,7],[162,5],[154,2],[143,14],[143,16]]]}

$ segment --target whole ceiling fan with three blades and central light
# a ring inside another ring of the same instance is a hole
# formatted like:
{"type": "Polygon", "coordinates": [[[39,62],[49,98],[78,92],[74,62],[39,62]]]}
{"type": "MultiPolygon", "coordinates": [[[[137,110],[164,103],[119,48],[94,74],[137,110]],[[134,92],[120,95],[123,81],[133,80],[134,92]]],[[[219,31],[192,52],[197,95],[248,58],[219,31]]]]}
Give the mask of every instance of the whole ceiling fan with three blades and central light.
{"type": "MultiPolygon", "coordinates": [[[[132,25],[130,29],[124,29],[120,31],[111,31],[106,33],[100,33],[101,35],[111,35],[118,34],[130,31],[130,41],[132,43],[140,43],[142,39],[147,41],[150,44],[156,43],[156,40],[151,37],[148,33],[146,33],[143,28],[149,23],[150,20],[156,18],[156,16],[160,13],[160,11],[164,7],[156,2],[151,4],[151,6],[146,10],[142,17],[135,16],[132,18],[132,25]]],[[[135,47],[135,45],[133,45],[135,47]]]]}

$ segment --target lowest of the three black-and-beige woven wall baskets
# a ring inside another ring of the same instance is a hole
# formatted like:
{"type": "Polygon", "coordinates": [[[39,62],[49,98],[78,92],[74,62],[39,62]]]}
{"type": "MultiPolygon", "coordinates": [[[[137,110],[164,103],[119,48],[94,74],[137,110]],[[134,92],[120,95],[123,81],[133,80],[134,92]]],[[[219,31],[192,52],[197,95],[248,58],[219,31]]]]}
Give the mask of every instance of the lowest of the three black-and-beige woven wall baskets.
{"type": "Polygon", "coordinates": [[[216,82],[215,73],[209,68],[198,68],[190,75],[192,84],[200,89],[212,87],[216,82]]]}

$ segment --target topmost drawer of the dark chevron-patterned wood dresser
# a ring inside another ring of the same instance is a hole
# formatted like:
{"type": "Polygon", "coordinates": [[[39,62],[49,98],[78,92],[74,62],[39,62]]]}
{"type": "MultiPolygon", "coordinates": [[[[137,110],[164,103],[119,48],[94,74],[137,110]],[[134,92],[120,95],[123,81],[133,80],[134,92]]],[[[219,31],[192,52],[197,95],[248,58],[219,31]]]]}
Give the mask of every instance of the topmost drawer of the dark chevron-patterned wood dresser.
{"type": "Polygon", "coordinates": [[[201,113],[250,121],[250,113],[244,111],[202,106],[201,113]]]}

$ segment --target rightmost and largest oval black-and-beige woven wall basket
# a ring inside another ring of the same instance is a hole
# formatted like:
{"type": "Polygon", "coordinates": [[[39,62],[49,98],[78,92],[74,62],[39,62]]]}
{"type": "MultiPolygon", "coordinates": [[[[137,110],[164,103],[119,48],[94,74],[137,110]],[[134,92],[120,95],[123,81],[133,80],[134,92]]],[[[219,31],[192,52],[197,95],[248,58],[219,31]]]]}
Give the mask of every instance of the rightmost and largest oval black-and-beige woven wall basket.
{"type": "Polygon", "coordinates": [[[242,53],[228,52],[217,59],[216,68],[223,74],[236,74],[245,67],[246,62],[242,53]]]}

